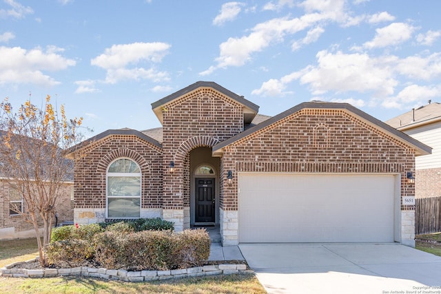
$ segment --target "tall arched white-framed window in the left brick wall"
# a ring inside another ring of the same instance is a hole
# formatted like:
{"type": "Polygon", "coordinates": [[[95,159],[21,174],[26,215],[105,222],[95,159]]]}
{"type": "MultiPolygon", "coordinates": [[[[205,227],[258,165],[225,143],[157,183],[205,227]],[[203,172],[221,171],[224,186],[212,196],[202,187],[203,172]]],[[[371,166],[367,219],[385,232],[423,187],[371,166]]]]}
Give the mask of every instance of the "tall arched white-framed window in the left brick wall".
{"type": "Polygon", "coordinates": [[[119,158],[107,169],[107,218],[141,216],[141,169],[136,162],[119,158]]]}

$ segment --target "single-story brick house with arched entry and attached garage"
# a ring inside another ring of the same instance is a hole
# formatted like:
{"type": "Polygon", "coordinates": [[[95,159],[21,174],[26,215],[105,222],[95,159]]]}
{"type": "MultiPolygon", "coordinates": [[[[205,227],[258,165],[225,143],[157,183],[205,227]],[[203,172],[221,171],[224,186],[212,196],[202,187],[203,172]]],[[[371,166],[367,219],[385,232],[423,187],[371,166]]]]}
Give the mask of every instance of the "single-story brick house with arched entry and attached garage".
{"type": "Polygon", "coordinates": [[[162,128],[110,129],[76,146],[74,220],[161,217],[219,224],[240,242],[414,246],[406,178],[431,148],[347,103],[277,116],[213,82],[155,103],[162,128]]]}

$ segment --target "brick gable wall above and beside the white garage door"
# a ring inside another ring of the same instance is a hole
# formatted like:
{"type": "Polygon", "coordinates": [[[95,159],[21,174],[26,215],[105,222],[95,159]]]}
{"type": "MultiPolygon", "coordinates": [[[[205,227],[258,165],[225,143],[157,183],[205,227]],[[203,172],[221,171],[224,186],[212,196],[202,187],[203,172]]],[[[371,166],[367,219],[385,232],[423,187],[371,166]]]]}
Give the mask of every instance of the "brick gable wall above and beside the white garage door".
{"type": "MultiPolygon", "coordinates": [[[[304,109],[225,147],[222,162],[224,170],[236,173],[401,174],[401,195],[413,196],[414,187],[406,185],[406,171],[414,170],[414,154],[410,147],[343,110],[304,109]]],[[[237,176],[232,187],[223,189],[223,210],[238,209],[236,181],[237,176]]]]}

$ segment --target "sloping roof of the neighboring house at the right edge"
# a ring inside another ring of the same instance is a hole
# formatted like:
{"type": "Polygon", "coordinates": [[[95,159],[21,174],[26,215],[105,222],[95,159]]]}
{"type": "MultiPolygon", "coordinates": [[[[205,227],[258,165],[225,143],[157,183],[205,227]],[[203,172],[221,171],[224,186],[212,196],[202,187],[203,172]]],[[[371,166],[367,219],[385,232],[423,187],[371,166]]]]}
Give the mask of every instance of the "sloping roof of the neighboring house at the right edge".
{"type": "Polygon", "coordinates": [[[391,127],[404,131],[438,121],[441,121],[441,103],[431,103],[386,120],[386,123],[391,127]]]}

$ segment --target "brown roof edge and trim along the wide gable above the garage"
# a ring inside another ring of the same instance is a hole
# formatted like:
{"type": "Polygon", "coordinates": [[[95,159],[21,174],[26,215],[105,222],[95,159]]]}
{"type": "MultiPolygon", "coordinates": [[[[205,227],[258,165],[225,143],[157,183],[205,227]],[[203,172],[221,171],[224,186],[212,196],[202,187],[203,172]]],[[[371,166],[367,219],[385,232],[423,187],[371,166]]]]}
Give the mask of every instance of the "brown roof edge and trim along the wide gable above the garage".
{"type": "Polygon", "coordinates": [[[290,109],[288,109],[285,112],[282,112],[281,114],[278,114],[276,116],[273,116],[267,120],[265,120],[263,123],[260,123],[254,127],[251,127],[249,129],[246,129],[244,132],[229,138],[223,142],[218,143],[217,145],[214,145],[212,148],[213,156],[220,156],[223,153],[223,148],[236,142],[237,140],[240,140],[242,138],[245,138],[246,136],[249,136],[250,134],[253,134],[254,132],[258,132],[260,129],[263,129],[273,123],[276,123],[278,120],[281,120],[291,114],[294,114],[296,112],[299,112],[302,109],[342,109],[346,112],[349,112],[353,116],[356,116],[360,118],[361,120],[364,120],[365,122],[369,123],[370,125],[373,125],[374,127],[377,127],[378,129],[381,129],[383,132],[386,132],[387,134],[390,134],[393,136],[393,138],[396,138],[407,145],[410,145],[416,149],[416,155],[426,155],[431,154],[431,147],[424,145],[420,141],[412,138],[411,136],[408,136],[407,134],[404,134],[403,132],[398,131],[397,129],[394,129],[390,125],[387,125],[386,123],[383,123],[381,120],[378,120],[377,118],[374,118],[373,116],[370,116],[369,114],[362,112],[360,109],[353,107],[349,103],[331,103],[331,102],[322,102],[322,101],[311,101],[311,102],[305,102],[300,103],[297,106],[294,106],[290,109]]]}

